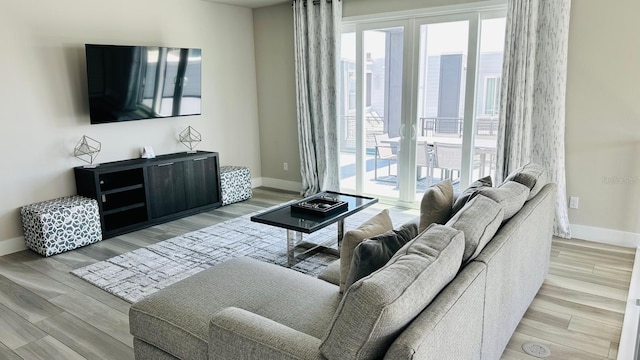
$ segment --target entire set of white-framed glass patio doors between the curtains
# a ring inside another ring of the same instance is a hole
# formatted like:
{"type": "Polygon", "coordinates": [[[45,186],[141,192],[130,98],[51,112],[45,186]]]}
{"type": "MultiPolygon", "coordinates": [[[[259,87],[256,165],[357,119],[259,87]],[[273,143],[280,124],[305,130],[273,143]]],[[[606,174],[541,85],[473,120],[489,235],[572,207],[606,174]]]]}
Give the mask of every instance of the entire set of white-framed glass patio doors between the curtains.
{"type": "Polygon", "coordinates": [[[345,26],[341,189],[411,203],[495,168],[504,11],[345,26]]]}

